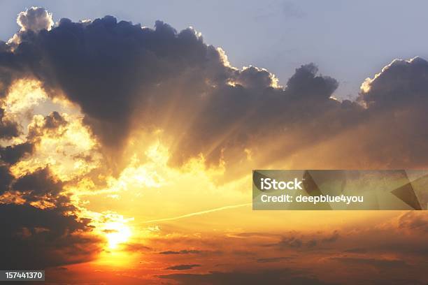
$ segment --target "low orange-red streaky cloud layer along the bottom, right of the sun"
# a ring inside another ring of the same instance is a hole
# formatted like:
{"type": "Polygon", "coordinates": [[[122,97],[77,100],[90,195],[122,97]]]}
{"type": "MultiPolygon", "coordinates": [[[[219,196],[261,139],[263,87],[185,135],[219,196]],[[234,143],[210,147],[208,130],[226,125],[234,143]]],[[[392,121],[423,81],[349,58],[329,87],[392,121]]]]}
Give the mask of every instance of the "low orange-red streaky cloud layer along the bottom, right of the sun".
{"type": "MultiPolygon", "coordinates": [[[[358,222],[336,224],[336,226],[327,226],[330,229],[326,228],[322,232],[319,231],[319,228],[306,225],[302,226],[299,231],[294,226],[292,232],[287,232],[283,228],[283,231],[277,229],[274,233],[257,233],[251,231],[254,230],[253,228],[250,228],[248,232],[240,233],[222,231],[212,233],[208,229],[202,230],[197,237],[190,237],[187,230],[164,228],[156,236],[146,238],[145,244],[157,250],[166,251],[166,254],[161,255],[158,251],[153,255],[159,265],[164,263],[187,264],[183,261],[189,261],[189,258],[192,258],[194,264],[203,264],[203,267],[195,268],[195,272],[191,276],[169,275],[170,272],[164,272],[173,280],[180,280],[179,282],[183,284],[204,284],[204,282],[215,284],[209,279],[211,276],[204,276],[211,275],[213,272],[207,271],[212,268],[224,273],[222,276],[225,280],[229,280],[229,277],[232,278],[228,274],[233,272],[262,274],[269,270],[290,270],[290,274],[287,275],[290,278],[294,275],[313,277],[313,279],[326,283],[377,284],[382,280],[394,279],[394,284],[406,284],[405,280],[414,279],[417,281],[414,282],[415,284],[425,284],[427,233],[417,228],[413,230],[401,228],[399,220],[407,213],[396,212],[394,214],[391,212],[385,216],[385,213],[379,212],[376,217],[374,212],[362,212],[357,216],[363,215],[358,218],[363,225],[358,222]],[[372,219],[372,221],[367,219],[372,219]],[[294,242],[294,240],[298,240],[298,242],[294,242]],[[314,246],[310,246],[312,241],[316,242],[314,246]],[[178,249],[185,248],[189,244],[199,251],[219,249],[222,254],[209,256],[179,254],[180,250],[170,249],[171,244],[178,249]],[[296,246],[296,244],[300,244],[300,246],[296,246]],[[341,259],[335,258],[348,259],[341,261],[341,259]],[[376,275],[373,275],[373,272],[376,272],[376,275]]],[[[423,211],[410,213],[424,214],[423,211]]],[[[345,219],[351,216],[357,217],[349,212],[348,214],[343,212],[343,215],[345,215],[345,219]]],[[[333,216],[334,213],[331,214],[331,217],[333,216]]],[[[327,216],[322,219],[325,217],[327,216]]],[[[406,218],[412,221],[418,220],[414,217],[406,218]]],[[[257,280],[258,276],[254,278],[257,280]]],[[[287,282],[288,280],[284,278],[281,279],[282,282],[273,283],[299,284],[297,281],[287,282]]],[[[219,281],[219,283],[221,282],[219,281]]]]}

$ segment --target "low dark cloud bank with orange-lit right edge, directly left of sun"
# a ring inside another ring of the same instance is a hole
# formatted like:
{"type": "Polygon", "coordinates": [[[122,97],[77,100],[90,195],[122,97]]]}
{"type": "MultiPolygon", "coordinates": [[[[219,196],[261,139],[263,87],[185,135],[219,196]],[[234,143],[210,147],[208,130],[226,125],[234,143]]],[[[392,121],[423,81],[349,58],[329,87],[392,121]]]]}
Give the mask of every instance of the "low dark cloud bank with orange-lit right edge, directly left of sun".
{"type": "Polygon", "coordinates": [[[89,261],[99,252],[99,240],[81,234],[90,229],[87,221],[60,210],[9,204],[0,205],[0,216],[2,269],[44,270],[89,261]]]}

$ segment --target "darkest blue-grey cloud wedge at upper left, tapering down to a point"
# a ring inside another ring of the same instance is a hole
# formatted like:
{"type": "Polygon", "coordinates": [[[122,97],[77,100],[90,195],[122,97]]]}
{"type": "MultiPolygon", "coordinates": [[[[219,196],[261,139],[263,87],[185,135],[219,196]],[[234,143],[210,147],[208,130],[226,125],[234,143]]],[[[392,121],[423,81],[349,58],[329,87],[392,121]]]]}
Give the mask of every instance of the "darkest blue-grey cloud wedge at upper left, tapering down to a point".
{"type": "Polygon", "coordinates": [[[22,41],[17,52],[43,59],[34,73],[48,90],[61,89],[78,103],[108,146],[127,137],[134,105],[145,101],[148,89],[208,64],[208,47],[194,31],[177,34],[163,22],[152,30],[110,16],[90,24],[63,19],[22,41]]]}

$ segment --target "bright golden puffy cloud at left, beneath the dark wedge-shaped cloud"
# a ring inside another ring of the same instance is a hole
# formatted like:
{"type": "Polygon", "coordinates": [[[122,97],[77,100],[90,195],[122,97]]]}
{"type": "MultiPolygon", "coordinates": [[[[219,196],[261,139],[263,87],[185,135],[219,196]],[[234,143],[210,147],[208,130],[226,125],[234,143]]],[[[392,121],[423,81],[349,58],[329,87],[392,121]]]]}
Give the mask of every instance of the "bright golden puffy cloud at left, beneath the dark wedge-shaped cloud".
{"type": "Polygon", "coordinates": [[[33,149],[31,154],[26,153],[10,166],[17,177],[49,167],[59,180],[69,182],[83,179],[94,168],[101,168],[97,140],[78,115],[65,112],[33,115],[27,133],[20,138],[25,138],[33,149]]]}

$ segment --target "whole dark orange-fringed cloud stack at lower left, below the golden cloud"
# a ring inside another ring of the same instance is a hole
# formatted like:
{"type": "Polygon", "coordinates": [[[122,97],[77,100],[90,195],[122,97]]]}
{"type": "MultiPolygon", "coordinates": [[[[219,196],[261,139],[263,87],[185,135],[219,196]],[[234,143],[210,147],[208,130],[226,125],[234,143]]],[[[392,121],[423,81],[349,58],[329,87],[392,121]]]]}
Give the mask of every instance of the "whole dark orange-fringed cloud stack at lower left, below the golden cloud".
{"type": "Polygon", "coordinates": [[[44,269],[90,261],[99,253],[101,240],[90,235],[90,219],[73,214],[77,209],[63,183],[48,168],[15,178],[0,166],[0,183],[0,194],[11,191],[24,199],[20,205],[0,204],[0,268],[44,269]]]}

